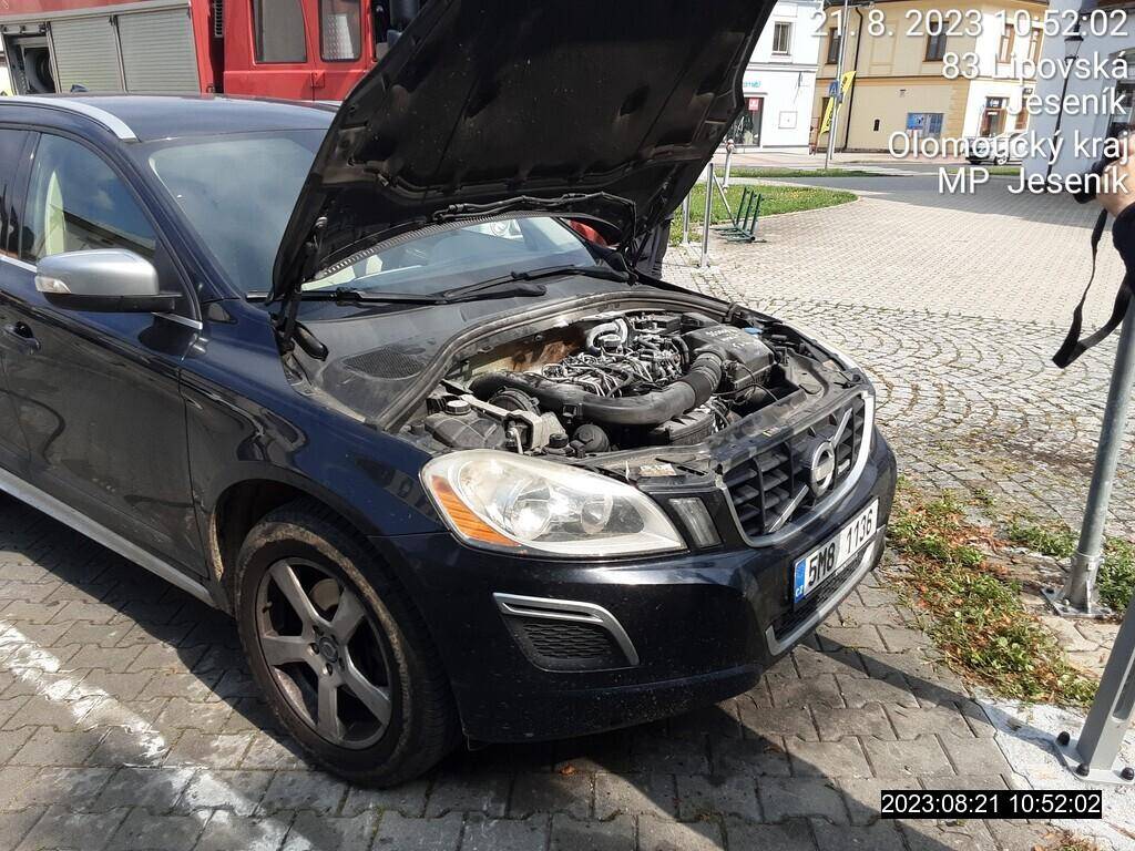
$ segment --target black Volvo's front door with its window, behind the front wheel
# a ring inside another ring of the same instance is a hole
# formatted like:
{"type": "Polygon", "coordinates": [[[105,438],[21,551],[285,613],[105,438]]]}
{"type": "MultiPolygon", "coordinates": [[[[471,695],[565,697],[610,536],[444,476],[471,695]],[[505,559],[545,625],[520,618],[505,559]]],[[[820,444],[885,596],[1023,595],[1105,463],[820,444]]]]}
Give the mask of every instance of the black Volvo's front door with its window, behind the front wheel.
{"type": "Polygon", "coordinates": [[[42,133],[30,168],[19,254],[3,295],[9,391],[32,485],[133,544],[203,572],[186,450],[180,361],[192,325],[151,313],[50,304],[35,288],[44,256],[126,248],[150,260],[163,290],[192,295],[123,176],[92,148],[42,133]]]}

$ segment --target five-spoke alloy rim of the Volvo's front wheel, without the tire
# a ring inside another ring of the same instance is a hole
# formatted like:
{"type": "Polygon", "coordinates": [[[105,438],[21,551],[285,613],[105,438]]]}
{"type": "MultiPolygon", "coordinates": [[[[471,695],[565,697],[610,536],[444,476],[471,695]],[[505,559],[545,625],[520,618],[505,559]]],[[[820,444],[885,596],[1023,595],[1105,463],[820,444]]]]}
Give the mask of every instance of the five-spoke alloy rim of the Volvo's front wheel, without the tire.
{"type": "Polygon", "coordinates": [[[257,591],[257,637],[280,694],[325,740],[360,749],[382,738],[394,668],[354,588],[311,562],[276,562],[257,591]]]}

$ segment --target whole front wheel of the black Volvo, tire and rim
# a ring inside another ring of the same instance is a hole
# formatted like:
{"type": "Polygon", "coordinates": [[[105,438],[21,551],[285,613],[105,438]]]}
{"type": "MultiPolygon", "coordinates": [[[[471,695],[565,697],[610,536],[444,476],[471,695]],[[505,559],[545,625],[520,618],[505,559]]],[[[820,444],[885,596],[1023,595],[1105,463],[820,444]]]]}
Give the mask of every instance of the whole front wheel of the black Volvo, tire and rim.
{"type": "Polygon", "coordinates": [[[236,571],[252,676],[312,761],[394,785],[452,749],[456,713],[426,626],[342,520],[314,503],[278,508],[236,571]]]}

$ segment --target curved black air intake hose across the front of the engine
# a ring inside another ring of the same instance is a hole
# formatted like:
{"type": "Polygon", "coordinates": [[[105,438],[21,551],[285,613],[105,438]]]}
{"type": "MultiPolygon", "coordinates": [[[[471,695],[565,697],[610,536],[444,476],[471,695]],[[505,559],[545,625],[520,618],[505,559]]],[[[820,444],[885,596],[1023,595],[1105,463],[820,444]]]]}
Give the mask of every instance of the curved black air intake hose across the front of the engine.
{"type": "Polygon", "coordinates": [[[580,419],[608,426],[661,426],[687,411],[704,405],[721,385],[722,359],[704,353],[693,359],[689,371],[672,385],[642,396],[609,398],[560,384],[532,372],[488,372],[474,378],[469,388],[488,401],[499,390],[523,390],[546,408],[561,413],[564,405],[579,405],[580,419]]]}

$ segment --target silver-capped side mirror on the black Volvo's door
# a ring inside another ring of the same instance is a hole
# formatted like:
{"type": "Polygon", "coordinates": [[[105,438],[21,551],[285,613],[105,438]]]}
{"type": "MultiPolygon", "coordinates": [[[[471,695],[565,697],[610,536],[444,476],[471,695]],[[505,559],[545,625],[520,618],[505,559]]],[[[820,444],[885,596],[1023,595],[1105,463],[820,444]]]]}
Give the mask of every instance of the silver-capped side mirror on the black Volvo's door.
{"type": "Polygon", "coordinates": [[[176,295],[159,292],[158,270],[133,251],[100,248],[43,258],[35,288],[49,302],[100,313],[168,313],[176,295]]]}

